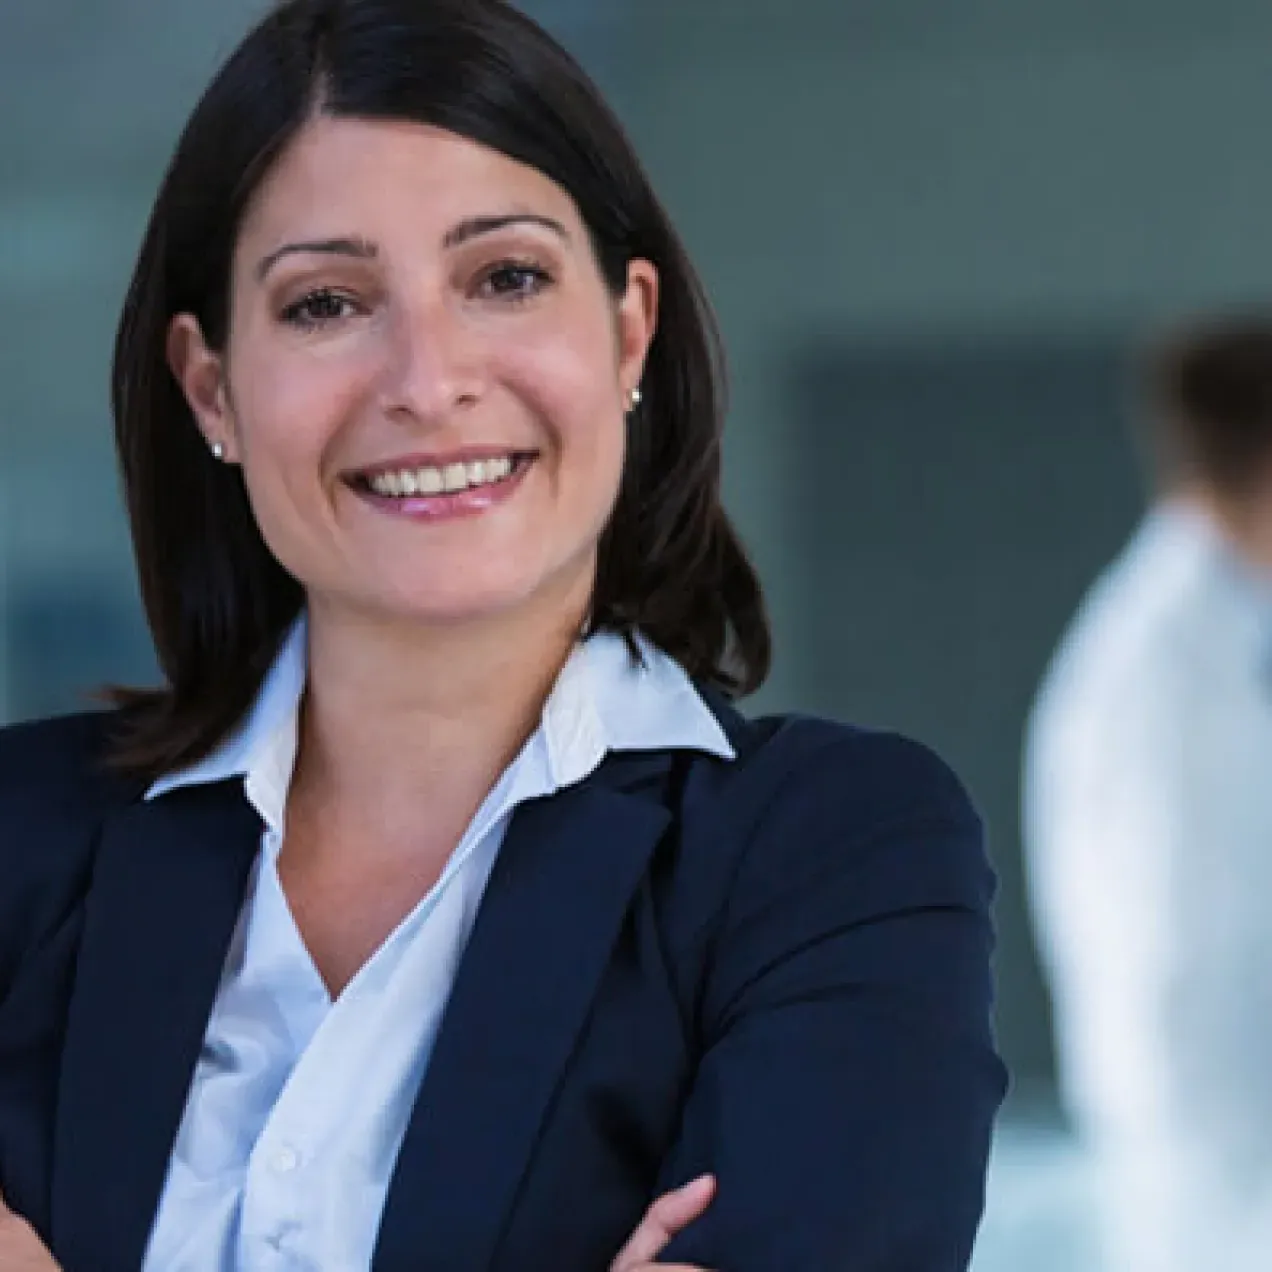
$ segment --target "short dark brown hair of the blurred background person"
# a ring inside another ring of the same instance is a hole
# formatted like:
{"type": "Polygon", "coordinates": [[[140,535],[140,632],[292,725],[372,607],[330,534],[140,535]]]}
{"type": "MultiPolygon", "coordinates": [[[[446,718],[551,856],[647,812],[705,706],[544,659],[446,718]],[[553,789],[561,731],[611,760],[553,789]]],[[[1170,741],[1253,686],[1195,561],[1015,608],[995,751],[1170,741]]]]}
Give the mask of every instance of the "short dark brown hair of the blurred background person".
{"type": "Polygon", "coordinates": [[[1241,496],[1272,476],[1272,315],[1212,319],[1149,359],[1155,458],[1165,485],[1241,496]]]}

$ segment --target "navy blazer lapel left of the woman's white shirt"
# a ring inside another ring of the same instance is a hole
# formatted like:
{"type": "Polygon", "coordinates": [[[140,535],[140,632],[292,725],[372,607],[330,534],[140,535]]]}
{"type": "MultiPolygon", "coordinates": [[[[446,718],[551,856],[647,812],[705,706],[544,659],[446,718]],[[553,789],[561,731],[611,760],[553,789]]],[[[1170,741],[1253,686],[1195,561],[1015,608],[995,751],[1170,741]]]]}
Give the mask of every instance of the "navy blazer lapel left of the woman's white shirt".
{"type": "Polygon", "coordinates": [[[103,828],[53,1138],[67,1267],[141,1263],[259,834],[238,782],[134,804],[103,828]]]}

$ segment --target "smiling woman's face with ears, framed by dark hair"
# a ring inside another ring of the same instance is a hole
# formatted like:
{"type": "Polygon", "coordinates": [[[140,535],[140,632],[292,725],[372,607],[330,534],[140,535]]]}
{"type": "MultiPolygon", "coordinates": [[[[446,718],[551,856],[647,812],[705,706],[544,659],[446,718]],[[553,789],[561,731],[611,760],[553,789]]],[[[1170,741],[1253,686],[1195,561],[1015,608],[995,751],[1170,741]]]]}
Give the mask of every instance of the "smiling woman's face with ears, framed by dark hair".
{"type": "Polygon", "coordinates": [[[415,123],[319,118],[235,248],[223,356],[169,360],[314,607],[580,619],[658,276],[605,286],[570,196],[415,123]]]}

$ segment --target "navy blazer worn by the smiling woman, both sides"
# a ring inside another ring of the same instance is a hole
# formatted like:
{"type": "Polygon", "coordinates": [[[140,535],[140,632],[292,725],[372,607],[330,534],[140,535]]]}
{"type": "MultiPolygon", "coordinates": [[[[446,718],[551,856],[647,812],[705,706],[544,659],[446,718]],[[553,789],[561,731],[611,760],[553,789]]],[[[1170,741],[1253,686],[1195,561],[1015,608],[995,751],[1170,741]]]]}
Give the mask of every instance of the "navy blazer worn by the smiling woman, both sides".
{"type": "MultiPolygon", "coordinates": [[[[712,698],[735,761],[611,756],[514,815],[374,1272],[962,1272],[1004,1071],[992,876],[930,752],[712,698]]],[[[261,824],[153,803],[108,715],[0,730],[0,1189],[66,1272],[145,1249],[261,824]]]]}

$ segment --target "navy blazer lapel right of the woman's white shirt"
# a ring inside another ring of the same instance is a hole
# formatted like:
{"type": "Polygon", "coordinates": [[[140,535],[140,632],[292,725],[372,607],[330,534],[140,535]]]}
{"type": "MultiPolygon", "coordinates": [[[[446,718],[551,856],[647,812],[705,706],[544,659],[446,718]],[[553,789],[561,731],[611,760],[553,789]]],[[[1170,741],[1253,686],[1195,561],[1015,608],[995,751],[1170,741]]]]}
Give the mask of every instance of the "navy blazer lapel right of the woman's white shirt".
{"type": "Polygon", "coordinates": [[[491,874],[385,1199],[375,1272],[482,1272],[670,814],[665,754],[523,805],[491,874]],[[618,789],[614,789],[618,787],[618,789]]]}

